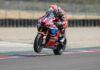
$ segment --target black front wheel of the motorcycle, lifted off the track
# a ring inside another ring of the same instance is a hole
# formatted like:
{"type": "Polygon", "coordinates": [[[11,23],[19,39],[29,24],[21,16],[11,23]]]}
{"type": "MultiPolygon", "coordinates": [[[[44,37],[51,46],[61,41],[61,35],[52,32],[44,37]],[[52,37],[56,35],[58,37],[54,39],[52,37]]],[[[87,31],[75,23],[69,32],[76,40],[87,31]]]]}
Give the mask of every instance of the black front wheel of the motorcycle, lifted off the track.
{"type": "Polygon", "coordinates": [[[38,34],[34,41],[34,51],[40,53],[42,50],[43,35],[38,34]]]}

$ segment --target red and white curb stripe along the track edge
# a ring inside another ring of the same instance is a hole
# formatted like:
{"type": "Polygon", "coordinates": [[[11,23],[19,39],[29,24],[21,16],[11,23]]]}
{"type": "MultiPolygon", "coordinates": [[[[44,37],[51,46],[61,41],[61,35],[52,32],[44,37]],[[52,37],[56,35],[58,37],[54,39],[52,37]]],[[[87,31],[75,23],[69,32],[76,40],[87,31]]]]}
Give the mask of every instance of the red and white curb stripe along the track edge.
{"type": "MultiPolygon", "coordinates": [[[[63,54],[74,54],[74,53],[85,53],[85,52],[100,52],[100,49],[95,50],[76,50],[76,51],[64,51],[63,54]]],[[[0,59],[8,59],[8,58],[21,58],[28,56],[50,56],[53,53],[28,53],[28,54],[15,54],[15,55],[0,55],[0,59]]]]}

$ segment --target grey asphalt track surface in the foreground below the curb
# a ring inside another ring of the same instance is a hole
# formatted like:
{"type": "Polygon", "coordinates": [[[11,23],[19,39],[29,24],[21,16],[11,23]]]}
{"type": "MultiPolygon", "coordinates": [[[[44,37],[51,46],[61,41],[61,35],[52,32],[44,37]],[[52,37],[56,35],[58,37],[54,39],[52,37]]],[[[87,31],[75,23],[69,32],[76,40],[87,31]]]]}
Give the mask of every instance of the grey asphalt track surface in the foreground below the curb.
{"type": "Polygon", "coordinates": [[[0,70],[100,70],[100,51],[1,59],[0,70]]]}

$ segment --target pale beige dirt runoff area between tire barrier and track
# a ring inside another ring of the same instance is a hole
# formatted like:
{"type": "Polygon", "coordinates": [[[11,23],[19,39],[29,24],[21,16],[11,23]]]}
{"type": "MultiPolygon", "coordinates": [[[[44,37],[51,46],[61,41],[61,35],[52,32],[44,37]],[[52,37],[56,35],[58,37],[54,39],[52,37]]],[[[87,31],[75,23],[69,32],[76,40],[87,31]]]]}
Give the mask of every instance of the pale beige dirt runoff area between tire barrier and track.
{"type": "MultiPolygon", "coordinates": [[[[0,28],[0,42],[33,44],[36,34],[35,27],[0,28]]],[[[100,46],[99,27],[69,27],[66,29],[66,36],[68,48],[100,46]]]]}

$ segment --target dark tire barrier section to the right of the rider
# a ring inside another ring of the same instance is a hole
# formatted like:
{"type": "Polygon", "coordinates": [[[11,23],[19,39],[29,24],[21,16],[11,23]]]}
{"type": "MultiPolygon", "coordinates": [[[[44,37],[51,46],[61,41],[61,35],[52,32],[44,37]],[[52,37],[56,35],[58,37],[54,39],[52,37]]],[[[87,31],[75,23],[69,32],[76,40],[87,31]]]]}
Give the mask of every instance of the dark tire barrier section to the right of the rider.
{"type": "Polygon", "coordinates": [[[100,27],[100,19],[71,19],[69,27],[100,27]]]}

